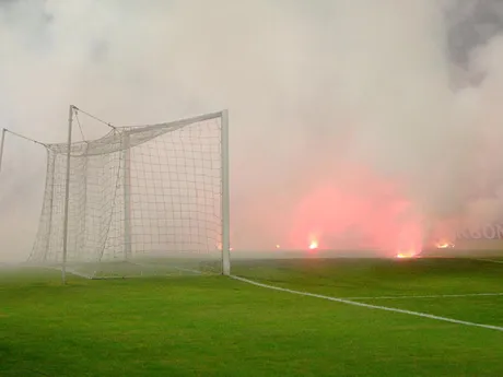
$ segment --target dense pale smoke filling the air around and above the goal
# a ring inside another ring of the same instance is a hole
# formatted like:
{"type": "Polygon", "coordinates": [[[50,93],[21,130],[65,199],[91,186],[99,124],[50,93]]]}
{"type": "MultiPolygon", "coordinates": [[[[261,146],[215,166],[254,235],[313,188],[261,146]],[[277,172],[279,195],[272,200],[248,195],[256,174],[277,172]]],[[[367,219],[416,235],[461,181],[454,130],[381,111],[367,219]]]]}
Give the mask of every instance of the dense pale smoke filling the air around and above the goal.
{"type": "MultiPolygon", "coordinates": [[[[235,248],[420,247],[433,221],[503,210],[501,8],[0,1],[0,126],[63,141],[69,104],[128,125],[229,108],[235,248]]],[[[19,145],[0,176],[0,259],[27,256],[19,229],[39,213],[44,167],[19,145]]]]}

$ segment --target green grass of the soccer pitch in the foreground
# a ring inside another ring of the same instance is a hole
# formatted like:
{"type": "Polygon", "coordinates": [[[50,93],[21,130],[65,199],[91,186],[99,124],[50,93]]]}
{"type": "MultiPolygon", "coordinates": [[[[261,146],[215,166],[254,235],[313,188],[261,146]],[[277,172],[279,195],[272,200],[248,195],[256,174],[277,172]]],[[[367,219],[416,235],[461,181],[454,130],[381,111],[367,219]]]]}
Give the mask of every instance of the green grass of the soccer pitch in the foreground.
{"type": "MultiPolygon", "coordinates": [[[[465,259],[238,262],[234,273],[337,297],[503,292],[465,259]]],[[[503,296],[360,302],[503,326],[503,296]]],[[[0,272],[0,376],[503,376],[503,332],[221,276],[89,281],[0,272]]]]}

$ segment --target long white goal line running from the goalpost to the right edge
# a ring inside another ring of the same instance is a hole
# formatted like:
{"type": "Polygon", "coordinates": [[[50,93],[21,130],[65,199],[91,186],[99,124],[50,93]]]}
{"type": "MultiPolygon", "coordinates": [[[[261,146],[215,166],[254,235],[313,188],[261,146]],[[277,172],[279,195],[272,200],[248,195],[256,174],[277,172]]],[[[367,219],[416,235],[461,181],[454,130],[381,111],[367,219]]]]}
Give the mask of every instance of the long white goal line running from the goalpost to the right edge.
{"type": "Polygon", "coordinates": [[[397,309],[397,308],[391,308],[391,307],[387,307],[387,306],[371,305],[371,304],[353,302],[353,301],[344,299],[344,298],[324,296],[324,295],[318,295],[318,294],[308,293],[308,292],[293,291],[293,290],[288,290],[288,288],[283,288],[283,287],[280,287],[280,286],[258,283],[258,282],[255,282],[253,280],[248,280],[248,279],[244,279],[244,278],[239,278],[239,276],[235,276],[235,275],[231,275],[231,278],[235,279],[237,281],[241,281],[243,283],[260,286],[262,288],[269,288],[269,290],[274,290],[274,291],[280,291],[280,292],[286,292],[286,293],[291,293],[291,294],[295,294],[295,295],[300,295],[300,296],[323,298],[323,299],[328,299],[328,301],[336,302],[336,303],[348,304],[348,305],[353,305],[353,306],[360,306],[360,307],[364,307],[364,308],[367,308],[367,309],[377,309],[377,310],[385,310],[385,311],[406,314],[406,315],[409,315],[409,316],[435,319],[435,320],[441,320],[441,321],[444,321],[444,322],[451,322],[451,323],[456,323],[456,325],[464,325],[464,326],[470,326],[470,327],[480,327],[480,328],[484,328],[484,329],[496,330],[496,331],[503,332],[503,327],[500,327],[500,326],[483,325],[483,323],[477,323],[477,322],[468,322],[468,321],[454,319],[454,318],[434,316],[434,315],[430,315],[430,314],[426,314],[426,313],[397,309]]]}

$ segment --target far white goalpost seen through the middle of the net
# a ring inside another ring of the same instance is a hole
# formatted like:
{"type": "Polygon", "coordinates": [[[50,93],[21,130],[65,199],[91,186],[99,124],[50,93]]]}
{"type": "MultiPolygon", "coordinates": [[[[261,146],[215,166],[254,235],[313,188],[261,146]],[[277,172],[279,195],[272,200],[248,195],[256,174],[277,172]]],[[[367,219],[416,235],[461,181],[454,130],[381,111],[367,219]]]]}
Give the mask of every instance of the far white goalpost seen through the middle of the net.
{"type": "Polygon", "coordinates": [[[131,256],[131,151],[129,133],[124,133],[124,260],[131,256]]]}

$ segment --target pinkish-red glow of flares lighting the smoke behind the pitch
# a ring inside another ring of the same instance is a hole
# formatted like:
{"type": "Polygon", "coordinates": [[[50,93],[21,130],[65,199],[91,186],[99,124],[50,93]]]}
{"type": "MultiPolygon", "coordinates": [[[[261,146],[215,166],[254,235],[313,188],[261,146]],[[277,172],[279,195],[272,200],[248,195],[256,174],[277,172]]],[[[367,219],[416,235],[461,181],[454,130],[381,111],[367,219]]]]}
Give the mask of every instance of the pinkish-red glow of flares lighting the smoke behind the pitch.
{"type": "MultiPolygon", "coordinates": [[[[339,176],[344,178],[318,184],[301,200],[292,216],[294,247],[302,247],[306,235],[313,243],[308,235],[315,229],[329,249],[379,249],[386,256],[421,250],[421,219],[398,185],[363,168],[339,176]]],[[[319,245],[314,246],[309,249],[319,245]]]]}

